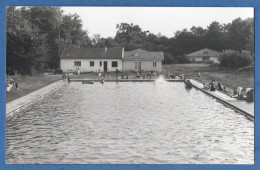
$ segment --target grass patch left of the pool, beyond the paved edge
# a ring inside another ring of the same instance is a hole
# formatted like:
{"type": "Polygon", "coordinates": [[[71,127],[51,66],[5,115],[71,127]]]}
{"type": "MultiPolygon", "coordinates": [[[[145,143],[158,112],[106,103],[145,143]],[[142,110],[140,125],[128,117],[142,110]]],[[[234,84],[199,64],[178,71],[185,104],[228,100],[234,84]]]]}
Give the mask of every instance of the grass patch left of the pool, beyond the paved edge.
{"type": "Polygon", "coordinates": [[[38,90],[60,79],[61,75],[9,76],[18,82],[18,89],[6,92],[6,103],[38,90]]]}

